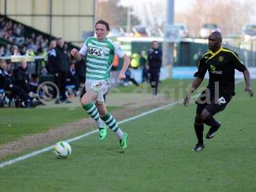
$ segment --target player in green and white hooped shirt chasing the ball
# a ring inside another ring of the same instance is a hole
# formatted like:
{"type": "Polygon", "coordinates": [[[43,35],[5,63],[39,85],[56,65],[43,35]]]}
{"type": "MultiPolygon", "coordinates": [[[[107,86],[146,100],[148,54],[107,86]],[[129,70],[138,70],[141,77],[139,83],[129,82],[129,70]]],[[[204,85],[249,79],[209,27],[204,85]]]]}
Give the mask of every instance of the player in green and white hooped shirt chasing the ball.
{"type": "Polygon", "coordinates": [[[109,70],[112,67],[115,54],[124,60],[118,79],[125,78],[125,71],[129,67],[130,59],[118,45],[106,38],[109,33],[108,22],[97,21],[95,31],[96,37],[87,38],[80,51],[72,49],[70,52],[76,61],[80,61],[86,56],[86,93],[81,98],[81,104],[97,122],[100,140],[106,138],[108,126],[118,136],[120,147],[127,148],[128,134],[122,132],[115,118],[108,113],[103,95],[110,88],[109,70]]]}

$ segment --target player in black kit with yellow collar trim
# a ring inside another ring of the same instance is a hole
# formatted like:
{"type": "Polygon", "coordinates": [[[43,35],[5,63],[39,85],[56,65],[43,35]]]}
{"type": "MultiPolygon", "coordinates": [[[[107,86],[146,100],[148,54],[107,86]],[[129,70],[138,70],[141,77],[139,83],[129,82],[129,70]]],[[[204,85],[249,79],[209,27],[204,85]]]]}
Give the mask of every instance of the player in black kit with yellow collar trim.
{"type": "Polygon", "coordinates": [[[220,122],[216,121],[213,116],[223,111],[235,95],[235,69],[243,72],[246,83],[244,91],[248,92],[250,97],[253,96],[249,71],[243,65],[236,52],[221,47],[221,42],[221,33],[212,32],[208,42],[209,52],[204,54],[199,61],[198,71],[194,75],[195,79],[184,99],[184,106],[187,106],[191,94],[200,86],[208,70],[209,84],[196,100],[195,133],[198,143],[193,148],[194,151],[200,151],[205,148],[203,140],[204,124],[211,127],[206,134],[207,139],[213,138],[216,131],[221,127],[220,122]]]}

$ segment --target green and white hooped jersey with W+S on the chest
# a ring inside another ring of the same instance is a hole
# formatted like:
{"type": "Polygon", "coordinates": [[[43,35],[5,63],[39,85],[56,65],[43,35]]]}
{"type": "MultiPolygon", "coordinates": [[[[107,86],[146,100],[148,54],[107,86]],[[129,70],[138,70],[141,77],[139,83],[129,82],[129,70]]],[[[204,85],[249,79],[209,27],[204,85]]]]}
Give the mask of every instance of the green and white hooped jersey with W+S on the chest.
{"type": "Polygon", "coordinates": [[[99,41],[95,36],[87,38],[79,52],[86,56],[86,79],[107,81],[115,54],[121,58],[125,54],[112,40],[99,41]]]}

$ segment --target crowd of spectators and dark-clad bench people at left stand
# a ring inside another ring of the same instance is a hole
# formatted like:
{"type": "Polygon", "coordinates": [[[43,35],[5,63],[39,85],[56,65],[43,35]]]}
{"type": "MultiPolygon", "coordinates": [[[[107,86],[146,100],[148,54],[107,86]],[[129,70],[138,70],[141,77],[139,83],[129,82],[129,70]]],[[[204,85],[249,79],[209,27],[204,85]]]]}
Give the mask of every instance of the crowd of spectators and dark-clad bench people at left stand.
{"type": "MultiPolygon", "coordinates": [[[[56,103],[69,103],[67,86],[72,85],[74,95],[79,95],[80,83],[84,81],[83,61],[76,63],[72,60],[68,45],[61,38],[49,42],[49,39],[43,38],[42,35],[36,36],[35,33],[31,33],[30,36],[26,36],[25,34],[29,33],[25,32],[22,24],[0,17],[0,38],[10,42],[0,46],[0,57],[44,56],[47,62],[43,65],[40,74],[54,76],[54,83],[60,90],[60,97],[56,99],[56,103]]],[[[8,101],[15,100],[16,107],[29,108],[36,100],[38,74],[31,74],[28,65],[26,61],[16,65],[10,60],[0,60],[0,107],[4,105],[3,95],[8,96],[8,101]]],[[[36,105],[38,103],[39,100],[36,100],[36,105]]]]}

